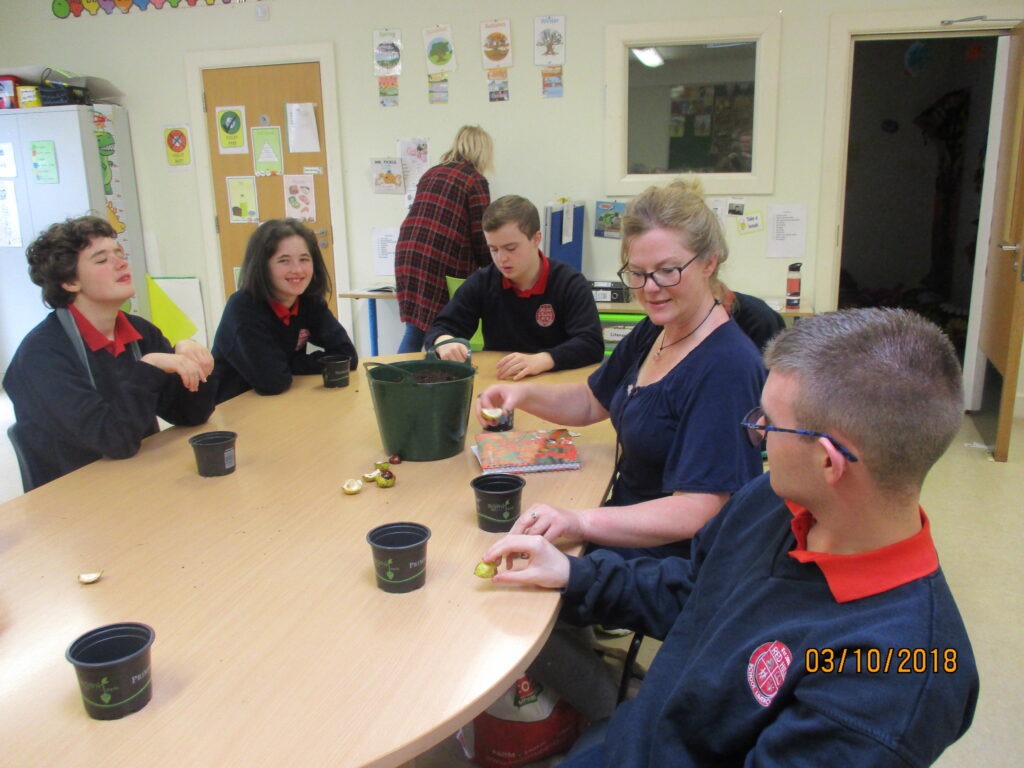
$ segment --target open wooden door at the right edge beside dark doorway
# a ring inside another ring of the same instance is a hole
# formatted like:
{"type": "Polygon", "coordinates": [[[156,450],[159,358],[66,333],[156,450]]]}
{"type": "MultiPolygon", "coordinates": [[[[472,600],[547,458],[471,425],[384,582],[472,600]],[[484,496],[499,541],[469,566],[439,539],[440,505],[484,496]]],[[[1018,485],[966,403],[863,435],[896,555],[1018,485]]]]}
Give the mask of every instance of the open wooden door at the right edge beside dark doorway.
{"type": "Polygon", "coordinates": [[[1002,375],[994,450],[998,462],[1010,453],[1024,342],[1024,25],[1011,37],[1002,136],[981,322],[981,349],[1002,375]]]}

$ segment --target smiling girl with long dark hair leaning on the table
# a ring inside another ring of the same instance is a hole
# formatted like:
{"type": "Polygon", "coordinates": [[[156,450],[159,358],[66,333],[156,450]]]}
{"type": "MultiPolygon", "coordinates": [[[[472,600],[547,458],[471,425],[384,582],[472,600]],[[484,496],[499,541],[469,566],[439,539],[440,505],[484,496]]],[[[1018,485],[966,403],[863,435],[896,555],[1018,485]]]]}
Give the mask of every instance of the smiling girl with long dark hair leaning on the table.
{"type": "Polygon", "coordinates": [[[331,292],[316,236],[297,219],[264,221],[249,239],[239,290],[213,339],[217,402],[250,389],[281,394],[292,376],[318,374],[325,354],[358,357],[331,313],[331,292]],[[323,351],[308,351],[307,344],[323,351]]]}

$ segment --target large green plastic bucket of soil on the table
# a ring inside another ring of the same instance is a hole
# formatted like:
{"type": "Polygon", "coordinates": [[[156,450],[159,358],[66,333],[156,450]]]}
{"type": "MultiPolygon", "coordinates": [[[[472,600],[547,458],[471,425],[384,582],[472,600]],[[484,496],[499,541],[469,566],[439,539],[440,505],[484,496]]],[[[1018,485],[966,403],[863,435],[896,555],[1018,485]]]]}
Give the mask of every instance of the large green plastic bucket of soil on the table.
{"type": "Polygon", "coordinates": [[[440,359],[362,364],[384,453],[430,462],[462,452],[476,369],[440,359]],[[421,382],[417,378],[449,381],[421,382]]]}

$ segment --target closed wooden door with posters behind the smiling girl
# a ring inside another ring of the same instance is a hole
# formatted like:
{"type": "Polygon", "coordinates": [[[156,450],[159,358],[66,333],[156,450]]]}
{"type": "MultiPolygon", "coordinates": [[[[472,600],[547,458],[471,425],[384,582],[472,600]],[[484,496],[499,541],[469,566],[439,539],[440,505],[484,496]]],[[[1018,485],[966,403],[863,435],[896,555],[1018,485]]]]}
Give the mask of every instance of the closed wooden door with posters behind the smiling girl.
{"type": "MultiPolygon", "coordinates": [[[[337,288],[334,273],[334,229],[331,225],[331,200],[328,193],[327,154],[324,147],[324,110],[321,96],[319,63],[273,65],[203,70],[203,95],[206,110],[206,131],[210,146],[210,166],[217,209],[217,238],[220,243],[220,263],[225,298],[234,292],[234,268],[242,265],[246,243],[257,223],[231,223],[228,210],[227,178],[255,176],[252,128],[281,128],[281,148],[285,174],[311,174],[315,201],[315,220],[306,221],[315,233],[324,254],[332,285],[337,288]],[[316,119],[319,152],[289,152],[286,105],[312,103],[316,119]],[[245,130],[248,151],[245,154],[222,154],[217,125],[217,110],[224,106],[245,108],[245,130]]],[[[282,176],[255,176],[260,221],[293,215],[286,204],[282,176]]],[[[327,297],[331,311],[338,313],[337,290],[327,297]]]]}

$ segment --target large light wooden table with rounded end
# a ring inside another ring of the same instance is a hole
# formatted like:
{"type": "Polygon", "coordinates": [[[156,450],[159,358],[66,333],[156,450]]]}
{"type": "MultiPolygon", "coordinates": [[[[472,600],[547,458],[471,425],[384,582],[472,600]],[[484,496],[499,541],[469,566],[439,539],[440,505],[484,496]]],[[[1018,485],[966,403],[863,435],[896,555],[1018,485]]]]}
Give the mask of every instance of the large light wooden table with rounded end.
{"type": "MultiPolygon", "coordinates": [[[[388,359],[418,357],[392,355],[388,359]]],[[[497,353],[476,353],[476,391],[497,353]]],[[[590,369],[548,375],[582,379],[590,369]]],[[[209,425],[146,439],[0,506],[0,764],[394,766],[484,710],[524,671],[558,596],[473,575],[496,534],[476,527],[468,451],[406,462],[388,489],[341,483],[383,451],[366,372],[347,389],[299,377],[223,403],[209,425]],[[239,433],[238,470],[196,473],[187,437],[239,433]],[[377,589],[366,534],[432,530],[427,583],[377,589]],[[103,570],[80,586],[78,574],[103,570]],[[65,649],[114,622],[156,630],[153,700],[90,720],[65,649]]],[[[516,426],[543,423],[516,414],[516,426]]],[[[527,475],[525,505],[593,505],[611,428],[579,430],[583,469],[527,475]]]]}

